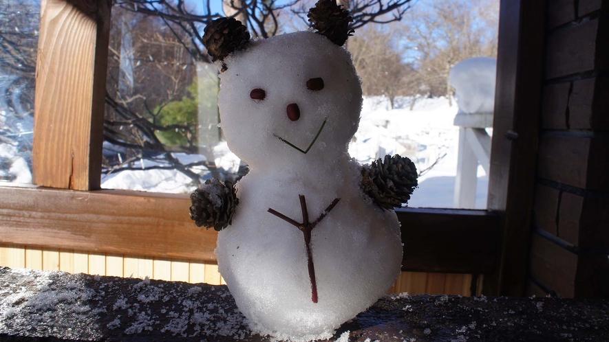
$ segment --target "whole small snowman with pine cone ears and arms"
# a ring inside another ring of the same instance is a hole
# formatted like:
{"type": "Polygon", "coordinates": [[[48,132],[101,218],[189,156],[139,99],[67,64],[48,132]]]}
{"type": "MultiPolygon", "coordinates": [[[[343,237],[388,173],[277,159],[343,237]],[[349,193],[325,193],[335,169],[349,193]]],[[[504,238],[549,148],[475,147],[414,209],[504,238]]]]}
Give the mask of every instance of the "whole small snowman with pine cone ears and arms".
{"type": "Polygon", "coordinates": [[[218,267],[250,328],[292,341],[331,337],[394,284],[393,208],[417,185],[407,158],[361,166],[349,157],[362,104],[341,47],[351,18],[334,0],[309,17],[317,32],[266,39],[250,39],[235,19],[206,27],[222,71],[220,126],[250,171],[191,195],[197,226],[220,231],[218,267]]]}

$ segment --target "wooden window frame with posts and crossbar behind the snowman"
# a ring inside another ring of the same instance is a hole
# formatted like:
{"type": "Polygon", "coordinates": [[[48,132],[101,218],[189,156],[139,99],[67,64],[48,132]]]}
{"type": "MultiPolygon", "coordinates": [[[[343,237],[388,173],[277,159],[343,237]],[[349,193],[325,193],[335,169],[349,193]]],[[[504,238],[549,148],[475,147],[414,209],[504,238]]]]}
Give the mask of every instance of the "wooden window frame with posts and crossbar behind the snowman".
{"type": "MultiPolygon", "coordinates": [[[[0,243],[215,262],[217,233],[193,225],[187,195],[100,190],[110,10],[42,0],[35,185],[0,186],[0,243]]],[[[501,2],[489,209],[398,209],[403,271],[486,274],[484,293],[524,293],[544,16],[544,1],[501,2]]]]}

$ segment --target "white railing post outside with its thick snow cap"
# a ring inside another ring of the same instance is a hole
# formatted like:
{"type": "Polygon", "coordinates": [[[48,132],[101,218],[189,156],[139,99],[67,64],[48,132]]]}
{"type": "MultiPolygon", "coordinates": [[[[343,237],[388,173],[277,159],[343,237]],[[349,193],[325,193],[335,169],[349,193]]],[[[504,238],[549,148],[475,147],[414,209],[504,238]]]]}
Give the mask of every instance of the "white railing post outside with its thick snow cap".
{"type": "Polygon", "coordinates": [[[456,89],[459,111],[454,124],[459,126],[459,155],[455,180],[454,207],[476,206],[478,165],[489,174],[491,137],[485,128],[493,127],[495,73],[497,60],[469,58],[450,72],[450,84],[456,89]]]}

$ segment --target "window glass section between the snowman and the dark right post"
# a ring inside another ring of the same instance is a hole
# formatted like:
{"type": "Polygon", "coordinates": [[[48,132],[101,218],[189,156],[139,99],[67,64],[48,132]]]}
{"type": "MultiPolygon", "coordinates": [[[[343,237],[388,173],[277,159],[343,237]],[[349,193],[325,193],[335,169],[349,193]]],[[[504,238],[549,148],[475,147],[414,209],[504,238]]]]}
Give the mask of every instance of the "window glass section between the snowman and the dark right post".
{"type": "Polygon", "coordinates": [[[409,207],[487,207],[499,1],[422,0],[348,48],[364,104],[350,154],[414,161],[409,207]]]}

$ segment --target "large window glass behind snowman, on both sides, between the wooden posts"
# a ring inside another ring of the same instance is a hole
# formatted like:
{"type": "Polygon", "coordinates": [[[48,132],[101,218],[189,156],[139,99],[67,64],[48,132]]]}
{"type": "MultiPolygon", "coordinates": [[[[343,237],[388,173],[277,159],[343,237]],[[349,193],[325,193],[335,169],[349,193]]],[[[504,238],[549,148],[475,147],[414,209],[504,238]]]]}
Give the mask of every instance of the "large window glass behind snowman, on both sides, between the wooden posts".
{"type": "MultiPolygon", "coordinates": [[[[348,40],[365,96],[350,154],[412,159],[411,207],[486,207],[498,3],[416,1],[402,21],[367,23],[348,40]]],[[[103,187],[187,193],[247,171],[217,128],[217,71],[200,42],[197,13],[221,9],[172,6],[112,10],[103,187]]],[[[279,32],[293,31],[290,13],[279,32]]]]}

